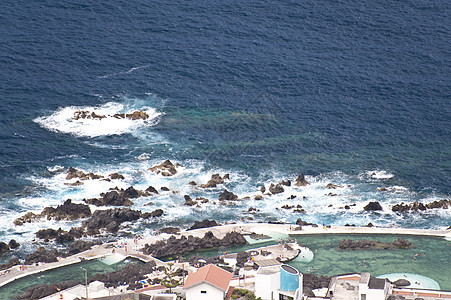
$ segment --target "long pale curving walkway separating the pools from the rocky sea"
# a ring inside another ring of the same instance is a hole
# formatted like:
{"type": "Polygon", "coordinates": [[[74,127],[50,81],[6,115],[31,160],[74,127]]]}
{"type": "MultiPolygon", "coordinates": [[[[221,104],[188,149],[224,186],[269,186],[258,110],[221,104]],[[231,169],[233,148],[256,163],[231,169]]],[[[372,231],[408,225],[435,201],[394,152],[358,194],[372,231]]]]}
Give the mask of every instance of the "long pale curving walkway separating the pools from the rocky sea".
{"type": "MultiPolygon", "coordinates": [[[[290,224],[227,224],[209,228],[201,228],[190,231],[183,231],[176,236],[197,236],[203,237],[206,232],[211,231],[217,238],[223,238],[226,233],[231,231],[240,232],[242,234],[250,234],[252,232],[257,234],[270,235],[271,233],[279,233],[283,235],[303,235],[303,234],[397,234],[397,235],[423,235],[423,236],[439,236],[451,239],[451,230],[430,230],[430,229],[409,229],[409,228],[380,228],[380,227],[350,227],[350,226],[332,226],[332,227],[314,227],[302,226],[301,230],[295,230],[297,225],[290,224]]],[[[146,243],[153,244],[156,241],[169,238],[170,234],[162,234],[158,236],[146,236],[141,239],[128,239],[116,243],[108,243],[94,246],[92,249],[78,253],[66,258],[60,258],[57,262],[39,263],[35,265],[25,265],[21,268],[20,265],[11,267],[8,270],[3,270],[0,276],[0,287],[4,286],[16,279],[36,274],[39,272],[64,267],[71,264],[80,263],[85,260],[98,259],[114,254],[119,254],[124,257],[134,257],[142,261],[155,261],[157,265],[166,265],[165,262],[160,261],[152,256],[145,255],[141,249],[146,243]],[[114,251],[113,251],[114,249],[114,251]]]]}

